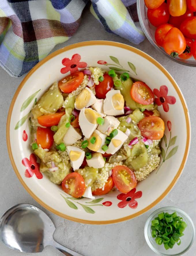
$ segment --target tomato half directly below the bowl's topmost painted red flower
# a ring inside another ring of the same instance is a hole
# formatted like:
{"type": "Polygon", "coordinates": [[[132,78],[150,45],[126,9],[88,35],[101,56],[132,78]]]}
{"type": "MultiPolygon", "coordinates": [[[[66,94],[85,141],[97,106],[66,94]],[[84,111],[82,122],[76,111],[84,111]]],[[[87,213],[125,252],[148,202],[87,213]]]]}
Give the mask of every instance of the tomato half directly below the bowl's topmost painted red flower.
{"type": "Polygon", "coordinates": [[[59,88],[62,92],[70,93],[73,92],[81,85],[84,78],[84,74],[81,71],[77,71],[69,76],[64,77],[58,83],[59,88]]]}

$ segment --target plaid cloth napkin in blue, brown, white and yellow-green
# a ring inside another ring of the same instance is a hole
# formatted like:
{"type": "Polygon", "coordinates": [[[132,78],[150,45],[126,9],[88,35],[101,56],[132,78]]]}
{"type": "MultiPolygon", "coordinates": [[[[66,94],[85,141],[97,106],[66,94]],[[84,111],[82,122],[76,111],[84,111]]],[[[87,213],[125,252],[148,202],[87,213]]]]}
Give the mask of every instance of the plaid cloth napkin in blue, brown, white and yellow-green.
{"type": "MultiPolygon", "coordinates": [[[[0,65],[19,77],[78,29],[88,0],[0,0],[0,65]]],[[[91,13],[106,31],[139,44],[136,0],[91,0],[91,13]]]]}

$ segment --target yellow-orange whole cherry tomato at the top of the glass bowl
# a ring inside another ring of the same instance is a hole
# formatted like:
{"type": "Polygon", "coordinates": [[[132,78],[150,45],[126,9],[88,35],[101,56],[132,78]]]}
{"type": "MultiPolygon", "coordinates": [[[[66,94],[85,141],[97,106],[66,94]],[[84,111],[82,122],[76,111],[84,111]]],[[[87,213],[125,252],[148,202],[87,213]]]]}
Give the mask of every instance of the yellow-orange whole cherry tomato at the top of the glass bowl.
{"type": "Polygon", "coordinates": [[[186,12],[186,0],[167,0],[171,16],[181,16],[186,12]]]}

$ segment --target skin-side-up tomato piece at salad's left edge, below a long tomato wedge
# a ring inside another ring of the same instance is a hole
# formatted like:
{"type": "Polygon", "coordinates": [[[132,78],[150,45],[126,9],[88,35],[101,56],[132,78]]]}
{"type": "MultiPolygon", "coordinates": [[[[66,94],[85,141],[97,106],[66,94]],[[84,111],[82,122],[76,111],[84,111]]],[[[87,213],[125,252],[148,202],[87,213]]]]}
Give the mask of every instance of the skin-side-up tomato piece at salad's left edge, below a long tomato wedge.
{"type": "Polygon", "coordinates": [[[50,149],[53,145],[53,131],[49,127],[37,127],[37,144],[41,145],[42,149],[50,149]]]}

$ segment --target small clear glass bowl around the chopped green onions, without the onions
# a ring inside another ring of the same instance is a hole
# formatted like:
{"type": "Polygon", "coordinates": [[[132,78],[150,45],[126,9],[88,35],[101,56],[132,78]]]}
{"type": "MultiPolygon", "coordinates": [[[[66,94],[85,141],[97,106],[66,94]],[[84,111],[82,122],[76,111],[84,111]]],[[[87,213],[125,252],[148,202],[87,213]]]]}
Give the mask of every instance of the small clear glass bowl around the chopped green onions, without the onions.
{"type": "Polygon", "coordinates": [[[156,211],[154,211],[148,218],[148,220],[146,221],[145,224],[145,228],[144,228],[144,236],[146,239],[146,242],[148,244],[148,246],[157,254],[159,255],[182,255],[183,253],[185,253],[187,250],[189,250],[189,248],[191,247],[191,245],[193,244],[193,240],[195,237],[195,227],[193,224],[193,221],[191,220],[191,218],[189,217],[189,215],[187,215],[184,211],[176,208],[176,207],[171,207],[171,206],[167,206],[167,207],[162,207],[156,211]],[[181,244],[178,246],[177,244],[174,245],[174,247],[172,249],[168,249],[166,250],[164,245],[158,245],[155,242],[154,237],[152,237],[151,235],[151,222],[152,220],[154,220],[155,217],[158,217],[159,213],[162,212],[168,212],[168,213],[173,213],[176,212],[178,216],[183,218],[183,221],[186,222],[187,227],[184,230],[184,236],[180,237],[181,239],[181,244]]]}

